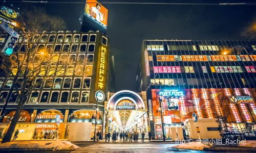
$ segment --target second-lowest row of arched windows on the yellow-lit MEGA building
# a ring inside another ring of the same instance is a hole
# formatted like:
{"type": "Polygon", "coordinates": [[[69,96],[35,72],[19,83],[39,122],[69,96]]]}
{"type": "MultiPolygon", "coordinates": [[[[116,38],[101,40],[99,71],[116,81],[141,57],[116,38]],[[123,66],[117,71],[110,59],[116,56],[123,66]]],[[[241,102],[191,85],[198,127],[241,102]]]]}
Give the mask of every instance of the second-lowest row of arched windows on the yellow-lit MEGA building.
{"type": "MultiPolygon", "coordinates": [[[[0,88],[3,86],[4,89],[10,89],[12,84],[13,84],[13,79],[7,79],[6,83],[4,84],[4,80],[3,78],[0,78],[0,88]]],[[[71,85],[73,84],[73,88],[75,89],[80,89],[81,88],[81,84],[82,84],[82,78],[74,78],[72,80],[72,78],[55,78],[54,81],[53,79],[48,79],[45,81],[42,80],[42,78],[37,78],[35,80],[35,88],[41,88],[42,86],[44,86],[43,88],[51,88],[53,86],[53,89],[60,89],[61,86],[63,89],[70,89],[71,85]],[[62,82],[63,80],[63,82],[62,82]]],[[[22,78],[19,78],[16,82],[16,85],[18,88],[22,87],[22,84],[24,80],[22,78]]],[[[26,88],[28,88],[28,85],[31,82],[27,82],[26,88]]],[[[91,86],[91,78],[84,78],[83,79],[83,84],[82,84],[82,88],[83,89],[90,89],[91,86]]]]}

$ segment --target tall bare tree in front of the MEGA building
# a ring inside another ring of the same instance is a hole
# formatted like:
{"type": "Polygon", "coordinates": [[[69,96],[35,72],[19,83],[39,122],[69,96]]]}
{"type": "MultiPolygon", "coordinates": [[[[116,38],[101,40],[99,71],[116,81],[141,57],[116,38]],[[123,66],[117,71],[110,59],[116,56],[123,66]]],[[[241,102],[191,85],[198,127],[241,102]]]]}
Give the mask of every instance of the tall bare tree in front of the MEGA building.
{"type": "Polygon", "coordinates": [[[66,23],[61,18],[49,16],[44,10],[33,7],[20,14],[18,24],[20,38],[15,52],[10,57],[2,54],[0,57],[2,68],[13,75],[14,91],[18,97],[16,113],[2,143],[11,140],[28,95],[42,82],[63,75],[65,67],[71,62],[67,57],[59,61],[58,55],[57,58],[53,56],[53,48],[42,49],[36,45],[47,31],[66,29],[66,23]],[[40,81],[36,82],[38,77],[40,81]]]}

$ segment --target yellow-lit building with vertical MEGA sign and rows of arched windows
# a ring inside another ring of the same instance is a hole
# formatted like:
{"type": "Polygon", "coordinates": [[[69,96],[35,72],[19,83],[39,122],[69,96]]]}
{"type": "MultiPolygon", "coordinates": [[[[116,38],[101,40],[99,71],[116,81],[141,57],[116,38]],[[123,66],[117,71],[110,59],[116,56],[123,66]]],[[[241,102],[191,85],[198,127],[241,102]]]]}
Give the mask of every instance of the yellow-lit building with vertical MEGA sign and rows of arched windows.
{"type": "MultiPolygon", "coordinates": [[[[60,114],[61,122],[92,122],[95,124],[96,100],[95,92],[114,92],[114,65],[110,52],[109,38],[99,32],[49,32],[38,41],[39,49],[52,48],[54,60],[53,75],[58,75],[57,68],[63,59],[71,59],[71,65],[63,67],[63,75],[45,82],[40,77],[35,82],[42,82],[27,97],[25,106],[18,123],[35,122],[35,131],[32,133],[45,134],[46,131],[55,131],[56,114],[60,114]],[[103,79],[104,78],[104,79],[103,79]],[[38,130],[39,129],[39,130],[38,130]]],[[[23,52],[21,47],[18,52],[23,52]]],[[[40,52],[36,52],[40,55],[40,52]]],[[[36,58],[37,54],[34,56],[36,58]]],[[[15,68],[12,70],[15,73],[15,68]]],[[[23,83],[23,80],[19,80],[23,83]]],[[[8,94],[11,98],[4,110],[3,124],[0,131],[3,135],[17,108],[17,94],[10,93],[13,77],[0,77],[0,108],[3,107],[8,94]]],[[[104,118],[104,104],[98,105],[96,129],[102,131],[104,118]]],[[[65,124],[66,125],[66,124],[65,124]]],[[[79,124],[78,124],[79,126],[79,124]]],[[[32,127],[31,127],[32,128],[32,127]]],[[[61,124],[59,129],[66,128],[61,124]]],[[[33,129],[33,128],[32,128],[33,129]]],[[[94,125],[92,126],[94,129],[94,125]]],[[[64,132],[66,130],[63,130],[64,132]]],[[[63,132],[62,131],[62,132],[63,132]]],[[[93,137],[93,132],[91,137],[93,137]]],[[[33,136],[33,139],[39,139],[33,136]]],[[[56,137],[55,137],[56,138],[56,137]]],[[[64,138],[64,136],[62,137],[64,138]]],[[[20,140],[22,137],[20,137],[20,140]]],[[[29,138],[30,139],[30,138],[29,138]]]]}

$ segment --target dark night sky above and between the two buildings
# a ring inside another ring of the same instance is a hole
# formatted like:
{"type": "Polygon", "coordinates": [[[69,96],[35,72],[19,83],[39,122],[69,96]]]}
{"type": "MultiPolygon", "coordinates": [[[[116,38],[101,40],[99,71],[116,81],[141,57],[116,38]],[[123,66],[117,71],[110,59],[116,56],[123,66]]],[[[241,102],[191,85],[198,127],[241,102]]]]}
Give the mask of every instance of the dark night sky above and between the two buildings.
{"type": "MultiPolygon", "coordinates": [[[[55,0],[56,2],[57,0],[55,0]]],[[[68,0],[66,0],[68,1],[68,0]]],[[[72,2],[73,0],[69,0],[72,2]]],[[[79,0],[78,0],[79,1],[79,0]]],[[[134,1],[169,3],[238,3],[243,1],[134,1]]],[[[48,1],[49,2],[49,1],[48,1]]],[[[59,1],[62,2],[62,1],[59,1]]],[[[74,2],[74,1],[73,1],[74,2]]],[[[84,1],[80,1],[84,2],[84,1]]],[[[98,2],[118,2],[98,0],[98,2]]],[[[125,1],[119,1],[125,2],[125,1]]],[[[128,1],[126,1],[128,2],[128,1]]],[[[255,2],[255,1],[246,1],[255,2]]],[[[17,4],[16,4],[17,5],[17,4]]],[[[62,17],[69,31],[80,31],[85,4],[33,4],[62,17]]],[[[109,10],[110,49],[115,56],[115,92],[136,87],[142,40],[242,40],[240,33],[256,18],[254,6],[102,4],[109,10]]]]}

